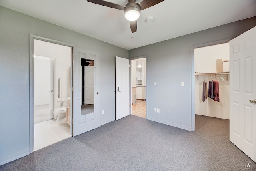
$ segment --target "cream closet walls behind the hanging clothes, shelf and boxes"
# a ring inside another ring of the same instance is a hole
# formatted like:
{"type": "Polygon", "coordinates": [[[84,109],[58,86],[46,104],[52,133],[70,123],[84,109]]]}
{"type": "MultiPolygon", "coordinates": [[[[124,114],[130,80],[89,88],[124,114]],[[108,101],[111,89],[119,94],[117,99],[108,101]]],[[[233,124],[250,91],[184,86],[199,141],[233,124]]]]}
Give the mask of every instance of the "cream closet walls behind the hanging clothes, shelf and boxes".
{"type": "MultiPolygon", "coordinates": [[[[196,73],[213,73],[212,78],[216,73],[216,59],[229,60],[229,43],[219,44],[196,48],[194,52],[195,72],[196,73]]],[[[211,75],[196,75],[195,76],[195,114],[222,119],[229,119],[229,74],[223,74],[224,81],[220,74],[216,74],[219,82],[220,102],[214,101],[209,97],[203,102],[203,82],[212,81],[211,75]]],[[[213,80],[216,81],[216,78],[213,80]]]]}

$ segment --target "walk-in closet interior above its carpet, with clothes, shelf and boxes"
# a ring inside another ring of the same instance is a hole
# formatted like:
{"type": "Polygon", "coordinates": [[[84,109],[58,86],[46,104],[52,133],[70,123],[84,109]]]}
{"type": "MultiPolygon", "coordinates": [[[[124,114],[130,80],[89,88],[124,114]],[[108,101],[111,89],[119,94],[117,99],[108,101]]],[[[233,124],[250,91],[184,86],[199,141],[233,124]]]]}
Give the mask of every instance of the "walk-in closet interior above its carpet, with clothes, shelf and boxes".
{"type": "Polygon", "coordinates": [[[229,43],[194,49],[195,114],[229,119],[229,43]]]}

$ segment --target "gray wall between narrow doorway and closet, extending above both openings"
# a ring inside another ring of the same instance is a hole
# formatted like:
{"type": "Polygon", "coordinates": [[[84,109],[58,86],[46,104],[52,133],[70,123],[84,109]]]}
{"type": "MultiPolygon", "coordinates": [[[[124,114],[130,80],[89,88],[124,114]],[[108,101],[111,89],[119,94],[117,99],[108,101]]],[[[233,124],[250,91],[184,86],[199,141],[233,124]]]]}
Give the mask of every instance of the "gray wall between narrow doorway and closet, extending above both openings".
{"type": "Polygon", "coordinates": [[[191,46],[234,38],[254,26],[256,17],[129,50],[129,58],[147,55],[147,119],[192,130],[191,46]]]}

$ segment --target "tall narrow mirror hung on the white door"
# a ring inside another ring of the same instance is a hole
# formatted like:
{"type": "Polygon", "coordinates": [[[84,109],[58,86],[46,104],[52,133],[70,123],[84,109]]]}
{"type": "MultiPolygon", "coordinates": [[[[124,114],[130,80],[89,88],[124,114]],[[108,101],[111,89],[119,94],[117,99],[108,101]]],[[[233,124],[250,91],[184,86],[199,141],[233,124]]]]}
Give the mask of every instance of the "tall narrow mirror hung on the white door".
{"type": "Polygon", "coordinates": [[[94,60],[81,59],[82,106],[81,115],[94,112],[94,60]]]}

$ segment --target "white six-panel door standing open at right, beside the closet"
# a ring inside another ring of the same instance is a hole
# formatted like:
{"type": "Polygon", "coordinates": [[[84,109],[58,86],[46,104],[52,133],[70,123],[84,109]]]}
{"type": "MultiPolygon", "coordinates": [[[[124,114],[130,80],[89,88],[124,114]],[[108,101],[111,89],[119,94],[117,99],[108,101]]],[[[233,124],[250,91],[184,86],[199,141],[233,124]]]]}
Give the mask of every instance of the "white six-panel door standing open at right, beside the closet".
{"type": "Polygon", "coordinates": [[[230,141],[256,161],[256,27],[230,41],[230,141]]]}

